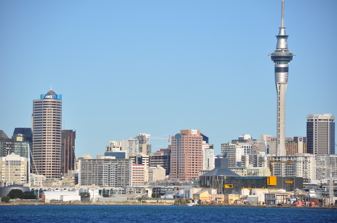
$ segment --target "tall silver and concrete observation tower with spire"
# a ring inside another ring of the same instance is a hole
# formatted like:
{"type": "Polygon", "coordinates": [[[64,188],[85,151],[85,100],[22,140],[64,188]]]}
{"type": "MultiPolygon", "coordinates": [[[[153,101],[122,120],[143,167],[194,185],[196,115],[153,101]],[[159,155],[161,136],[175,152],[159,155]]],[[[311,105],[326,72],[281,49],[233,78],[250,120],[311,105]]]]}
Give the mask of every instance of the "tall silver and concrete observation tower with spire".
{"type": "Polygon", "coordinates": [[[277,92],[277,156],[285,155],[285,91],[288,83],[288,67],[290,60],[295,56],[288,50],[284,27],[284,0],[282,0],[281,28],[277,38],[276,50],[269,53],[275,66],[275,84],[277,92]]]}

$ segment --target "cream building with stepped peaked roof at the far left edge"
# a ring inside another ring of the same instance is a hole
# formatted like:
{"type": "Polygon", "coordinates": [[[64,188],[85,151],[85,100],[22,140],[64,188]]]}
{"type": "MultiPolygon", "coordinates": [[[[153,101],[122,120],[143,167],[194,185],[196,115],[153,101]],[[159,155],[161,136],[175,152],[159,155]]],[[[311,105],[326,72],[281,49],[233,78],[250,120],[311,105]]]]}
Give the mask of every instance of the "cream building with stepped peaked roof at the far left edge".
{"type": "Polygon", "coordinates": [[[0,159],[1,187],[27,183],[28,159],[13,152],[0,159]]]}

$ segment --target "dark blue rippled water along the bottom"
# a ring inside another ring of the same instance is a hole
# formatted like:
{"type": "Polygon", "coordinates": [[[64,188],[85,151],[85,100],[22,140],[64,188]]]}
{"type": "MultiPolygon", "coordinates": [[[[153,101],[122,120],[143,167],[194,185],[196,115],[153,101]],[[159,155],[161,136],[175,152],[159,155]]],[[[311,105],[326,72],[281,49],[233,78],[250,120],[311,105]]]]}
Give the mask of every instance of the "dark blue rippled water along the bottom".
{"type": "Polygon", "coordinates": [[[136,205],[0,206],[0,222],[337,223],[337,210],[136,205]]]}

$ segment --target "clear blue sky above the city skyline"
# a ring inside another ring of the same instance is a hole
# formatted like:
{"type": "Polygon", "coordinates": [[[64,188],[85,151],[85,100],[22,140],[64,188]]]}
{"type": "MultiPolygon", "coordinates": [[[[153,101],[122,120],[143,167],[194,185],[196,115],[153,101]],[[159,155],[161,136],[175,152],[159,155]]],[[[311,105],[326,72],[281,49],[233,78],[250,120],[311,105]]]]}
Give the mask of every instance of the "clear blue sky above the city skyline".
{"type": "MultiPolygon", "coordinates": [[[[337,1],[285,1],[286,136],[337,117],[337,1]]],[[[214,144],[276,136],[281,0],[0,1],[0,129],[31,127],[33,100],[62,94],[76,156],[110,140],[200,129],[214,144]]],[[[165,136],[167,135],[167,136],[165,136]]],[[[151,140],[167,145],[167,140],[151,140]]]]}

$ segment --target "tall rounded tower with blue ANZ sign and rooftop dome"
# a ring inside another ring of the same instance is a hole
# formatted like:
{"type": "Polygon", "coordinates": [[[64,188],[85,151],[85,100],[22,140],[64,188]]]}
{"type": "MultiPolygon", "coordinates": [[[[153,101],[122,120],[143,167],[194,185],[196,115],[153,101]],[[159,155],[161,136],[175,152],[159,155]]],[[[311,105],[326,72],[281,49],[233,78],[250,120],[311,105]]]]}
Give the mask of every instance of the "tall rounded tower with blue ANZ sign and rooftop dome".
{"type": "Polygon", "coordinates": [[[62,95],[49,90],[33,100],[33,173],[48,178],[61,175],[62,95]]]}

